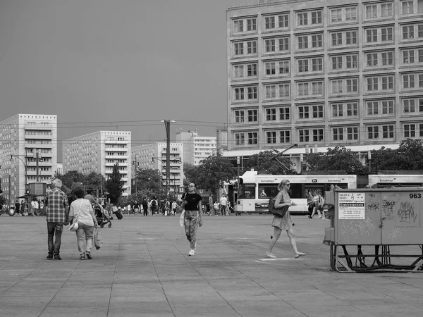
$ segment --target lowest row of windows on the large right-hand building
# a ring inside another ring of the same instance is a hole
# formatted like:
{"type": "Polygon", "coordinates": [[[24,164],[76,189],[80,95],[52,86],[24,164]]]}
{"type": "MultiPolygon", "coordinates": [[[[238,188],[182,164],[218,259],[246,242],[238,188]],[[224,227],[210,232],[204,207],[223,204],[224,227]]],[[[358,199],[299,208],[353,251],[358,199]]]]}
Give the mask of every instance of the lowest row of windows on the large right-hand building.
{"type": "MultiPolygon", "coordinates": [[[[264,132],[266,144],[290,144],[292,142],[325,142],[324,128],[298,129],[296,139],[292,139],[291,130],[270,130],[264,132]]],[[[368,125],[365,127],[367,141],[394,139],[395,125],[368,125]]],[[[400,132],[401,137],[423,137],[423,123],[404,123],[400,132]]],[[[259,143],[258,132],[234,132],[235,147],[256,145],[259,143]]],[[[360,137],[357,126],[331,128],[331,142],[358,141],[360,137]]]]}

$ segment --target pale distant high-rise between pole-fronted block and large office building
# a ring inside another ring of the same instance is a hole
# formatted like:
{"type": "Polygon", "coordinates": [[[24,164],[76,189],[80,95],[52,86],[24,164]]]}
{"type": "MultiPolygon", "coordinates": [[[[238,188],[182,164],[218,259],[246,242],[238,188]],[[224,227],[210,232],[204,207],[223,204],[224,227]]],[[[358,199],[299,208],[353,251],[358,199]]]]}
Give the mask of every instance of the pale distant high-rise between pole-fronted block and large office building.
{"type": "Polygon", "coordinates": [[[183,144],[183,161],[194,166],[216,154],[216,137],[200,137],[195,131],[176,132],[176,142],[183,144]]]}

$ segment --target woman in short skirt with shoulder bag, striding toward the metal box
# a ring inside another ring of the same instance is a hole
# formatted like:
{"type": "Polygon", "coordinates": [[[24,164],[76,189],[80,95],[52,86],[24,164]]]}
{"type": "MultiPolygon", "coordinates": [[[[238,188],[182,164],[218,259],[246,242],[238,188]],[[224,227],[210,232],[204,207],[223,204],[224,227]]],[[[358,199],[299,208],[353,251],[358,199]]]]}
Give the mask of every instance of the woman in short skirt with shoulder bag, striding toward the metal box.
{"type": "MultiPolygon", "coordinates": [[[[278,194],[275,198],[275,208],[282,208],[283,206],[295,206],[295,202],[290,200],[288,190],[290,188],[289,180],[282,180],[278,185],[278,194]]],[[[293,231],[293,222],[290,218],[289,210],[286,211],[283,217],[275,215],[271,225],[274,227],[274,237],[270,237],[269,251],[266,252],[268,258],[274,259],[276,256],[271,253],[271,250],[274,248],[276,241],[281,237],[282,230],[286,230],[286,233],[289,238],[291,247],[293,248],[295,259],[298,259],[300,256],[305,256],[304,253],[299,252],[297,249],[297,243],[295,242],[295,235],[293,231]]]]}

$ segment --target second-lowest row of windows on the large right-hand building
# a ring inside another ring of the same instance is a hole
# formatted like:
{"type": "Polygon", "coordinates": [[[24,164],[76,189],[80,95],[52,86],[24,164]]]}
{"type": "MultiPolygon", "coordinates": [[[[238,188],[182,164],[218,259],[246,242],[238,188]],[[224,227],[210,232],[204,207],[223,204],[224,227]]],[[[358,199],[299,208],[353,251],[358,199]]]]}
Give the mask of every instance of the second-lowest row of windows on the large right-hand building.
{"type": "MultiPolygon", "coordinates": [[[[402,99],[401,102],[403,115],[423,115],[423,97],[402,99]]],[[[396,113],[394,105],[393,99],[364,101],[365,116],[393,115],[396,113]]],[[[298,105],[295,108],[298,120],[324,118],[324,104],[298,105]]],[[[336,102],[329,105],[330,117],[334,119],[359,118],[358,109],[358,102],[336,102]]],[[[291,113],[291,106],[288,105],[264,108],[264,123],[290,121],[291,113]]],[[[233,110],[233,123],[258,123],[258,120],[257,109],[233,110]]]]}

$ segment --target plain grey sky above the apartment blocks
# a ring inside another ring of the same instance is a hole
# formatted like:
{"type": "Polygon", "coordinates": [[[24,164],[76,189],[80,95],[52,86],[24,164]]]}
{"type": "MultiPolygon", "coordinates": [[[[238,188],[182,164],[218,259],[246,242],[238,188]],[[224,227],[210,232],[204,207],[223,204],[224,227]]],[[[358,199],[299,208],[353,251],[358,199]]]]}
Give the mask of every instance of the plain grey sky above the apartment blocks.
{"type": "Polygon", "coordinates": [[[227,121],[226,10],[247,0],[0,0],[0,120],[56,114],[61,141],[227,121]]]}

